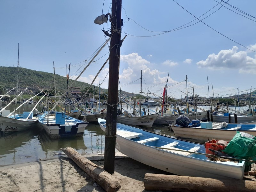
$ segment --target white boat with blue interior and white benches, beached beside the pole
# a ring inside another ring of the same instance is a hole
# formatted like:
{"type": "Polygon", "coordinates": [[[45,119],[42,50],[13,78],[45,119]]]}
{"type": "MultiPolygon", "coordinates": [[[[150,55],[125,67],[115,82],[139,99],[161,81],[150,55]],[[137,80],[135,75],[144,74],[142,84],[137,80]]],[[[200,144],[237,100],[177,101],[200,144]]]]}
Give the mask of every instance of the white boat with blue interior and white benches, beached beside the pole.
{"type": "MultiPolygon", "coordinates": [[[[103,131],[106,120],[98,119],[103,131]]],[[[204,145],[117,124],[116,149],[143,164],[177,175],[243,179],[245,162],[211,161],[204,145]]]]}

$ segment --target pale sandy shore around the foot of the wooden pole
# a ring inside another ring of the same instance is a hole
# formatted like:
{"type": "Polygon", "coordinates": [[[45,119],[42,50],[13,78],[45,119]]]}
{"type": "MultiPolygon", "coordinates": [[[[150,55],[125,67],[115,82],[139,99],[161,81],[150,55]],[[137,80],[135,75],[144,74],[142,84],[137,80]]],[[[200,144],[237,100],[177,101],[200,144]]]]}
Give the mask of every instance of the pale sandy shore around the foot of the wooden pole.
{"type": "MultiPolygon", "coordinates": [[[[105,191],[71,159],[59,157],[0,167],[0,192],[105,191]]],[[[103,168],[101,156],[95,154],[85,157],[103,168]]],[[[121,182],[120,192],[145,192],[145,173],[170,174],[116,153],[113,176],[121,182]]],[[[247,176],[247,179],[256,180],[255,176],[247,176]]]]}

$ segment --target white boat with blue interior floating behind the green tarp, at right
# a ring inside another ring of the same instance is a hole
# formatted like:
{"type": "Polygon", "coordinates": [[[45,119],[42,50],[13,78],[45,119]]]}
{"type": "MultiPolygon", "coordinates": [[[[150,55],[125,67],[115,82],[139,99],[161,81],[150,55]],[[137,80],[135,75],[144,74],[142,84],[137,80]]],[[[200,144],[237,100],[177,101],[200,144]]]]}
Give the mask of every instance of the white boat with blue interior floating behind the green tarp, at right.
{"type": "Polygon", "coordinates": [[[197,127],[191,127],[191,124],[188,126],[170,124],[169,127],[177,138],[197,143],[204,143],[208,139],[230,141],[235,136],[236,131],[256,136],[256,124],[201,122],[200,126],[197,127]]]}

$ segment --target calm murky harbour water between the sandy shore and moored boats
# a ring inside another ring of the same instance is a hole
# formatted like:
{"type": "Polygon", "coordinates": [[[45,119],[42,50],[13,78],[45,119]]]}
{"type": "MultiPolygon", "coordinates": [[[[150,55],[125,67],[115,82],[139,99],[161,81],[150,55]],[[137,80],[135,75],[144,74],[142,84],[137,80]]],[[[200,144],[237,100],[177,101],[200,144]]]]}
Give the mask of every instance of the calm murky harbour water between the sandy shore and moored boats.
{"type": "MultiPolygon", "coordinates": [[[[0,104],[0,107],[4,107],[4,104],[0,104]]],[[[34,104],[24,104],[21,112],[33,107],[34,104]]],[[[12,110],[11,108],[10,111],[12,110]]],[[[38,108],[38,111],[40,111],[40,108],[38,108]]],[[[152,128],[143,129],[173,136],[173,133],[166,126],[162,125],[154,125],[152,128]]],[[[66,147],[72,147],[82,155],[101,153],[101,151],[104,153],[104,146],[105,132],[101,131],[98,124],[88,124],[83,137],[54,140],[51,140],[44,130],[35,126],[24,132],[17,132],[7,136],[0,135],[0,166],[57,158],[58,156],[63,156],[60,148],[66,147]]]]}

